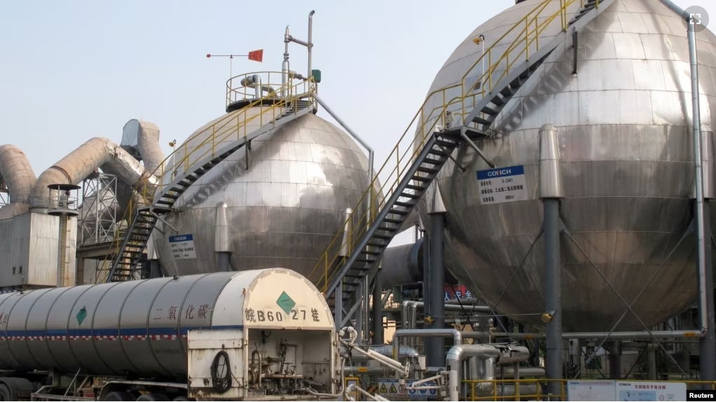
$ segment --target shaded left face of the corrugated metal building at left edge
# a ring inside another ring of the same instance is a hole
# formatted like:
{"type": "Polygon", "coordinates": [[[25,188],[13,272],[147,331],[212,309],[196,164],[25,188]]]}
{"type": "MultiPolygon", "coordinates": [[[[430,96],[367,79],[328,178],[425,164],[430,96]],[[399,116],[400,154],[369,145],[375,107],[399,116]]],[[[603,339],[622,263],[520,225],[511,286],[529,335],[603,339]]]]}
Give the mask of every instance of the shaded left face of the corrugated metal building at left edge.
{"type": "Polygon", "coordinates": [[[0,288],[22,285],[28,275],[29,228],[30,214],[0,220],[0,288]]]}

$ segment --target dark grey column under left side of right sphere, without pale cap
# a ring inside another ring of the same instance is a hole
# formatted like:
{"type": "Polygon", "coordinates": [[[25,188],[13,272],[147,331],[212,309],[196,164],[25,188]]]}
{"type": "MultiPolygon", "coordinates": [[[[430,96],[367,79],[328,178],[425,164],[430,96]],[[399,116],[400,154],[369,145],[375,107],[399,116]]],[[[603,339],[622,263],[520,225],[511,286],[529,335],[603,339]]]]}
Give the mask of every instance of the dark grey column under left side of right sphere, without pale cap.
{"type": "MultiPolygon", "coordinates": [[[[445,232],[445,212],[432,212],[430,215],[430,315],[432,329],[445,328],[445,265],[443,260],[443,233],[445,232]]],[[[442,366],[445,361],[445,339],[442,337],[426,340],[430,344],[430,354],[426,353],[427,366],[442,366]]]]}

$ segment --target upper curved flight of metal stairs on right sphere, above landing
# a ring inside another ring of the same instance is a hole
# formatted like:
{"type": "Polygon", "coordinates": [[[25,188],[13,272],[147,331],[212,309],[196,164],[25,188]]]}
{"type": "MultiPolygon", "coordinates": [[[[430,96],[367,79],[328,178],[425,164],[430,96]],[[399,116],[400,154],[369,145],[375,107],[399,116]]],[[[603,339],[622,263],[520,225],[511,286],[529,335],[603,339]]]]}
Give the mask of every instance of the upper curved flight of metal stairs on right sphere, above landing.
{"type": "MultiPolygon", "coordinates": [[[[537,52],[525,62],[511,70],[510,74],[500,79],[492,92],[485,94],[485,97],[475,104],[475,108],[465,117],[465,133],[473,139],[488,137],[490,125],[495,121],[500,111],[510,102],[518,90],[527,82],[532,74],[542,65],[550,54],[566,39],[576,33],[589,21],[594,19],[604,9],[609,7],[614,0],[585,0],[584,7],[579,9],[569,21],[569,29],[561,31],[548,44],[541,46],[537,52]],[[594,11],[594,12],[592,12],[594,11]],[[579,24],[577,24],[579,22],[579,24]],[[477,127],[470,127],[467,124],[476,123],[477,127]]],[[[576,50],[575,50],[576,51],[576,50]]]]}

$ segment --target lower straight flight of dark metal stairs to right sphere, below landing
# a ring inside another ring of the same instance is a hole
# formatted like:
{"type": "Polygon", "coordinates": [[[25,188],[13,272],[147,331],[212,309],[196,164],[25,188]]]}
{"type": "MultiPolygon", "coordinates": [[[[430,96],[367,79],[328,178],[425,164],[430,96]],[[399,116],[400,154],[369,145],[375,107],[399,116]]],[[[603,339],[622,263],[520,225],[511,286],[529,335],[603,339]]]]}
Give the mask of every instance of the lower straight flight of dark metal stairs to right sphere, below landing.
{"type": "Polygon", "coordinates": [[[437,177],[438,172],[450,158],[450,154],[458,147],[458,141],[445,138],[440,133],[427,137],[425,146],[415,161],[406,170],[400,181],[398,190],[390,195],[384,207],[375,217],[362,240],[357,243],[354,253],[337,270],[326,291],[329,305],[335,305],[337,288],[342,284],[343,301],[350,300],[360,290],[364,278],[372,278],[378,268],[379,259],[403,222],[412,212],[427,187],[437,177]],[[412,184],[411,184],[412,182],[412,184]]]}

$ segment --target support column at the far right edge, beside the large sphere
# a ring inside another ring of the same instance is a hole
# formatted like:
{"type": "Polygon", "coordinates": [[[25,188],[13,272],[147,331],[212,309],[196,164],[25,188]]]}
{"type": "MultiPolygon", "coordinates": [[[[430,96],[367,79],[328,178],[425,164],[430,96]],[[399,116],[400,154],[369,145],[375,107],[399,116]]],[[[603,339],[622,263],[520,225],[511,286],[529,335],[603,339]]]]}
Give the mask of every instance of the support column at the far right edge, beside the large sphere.
{"type": "MultiPolygon", "coordinates": [[[[706,313],[701,314],[706,318],[702,328],[706,327],[706,334],[699,338],[699,371],[702,381],[716,381],[716,331],[714,328],[714,287],[713,287],[713,260],[711,242],[711,210],[710,199],[716,197],[715,174],[714,174],[714,138],[711,127],[708,124],[701,124],[701,160],[702,160],[702,181],[703,181],[703,222],[704,222],[704,263],[705,263],[705,288],[706,313]]],[[[695,204],[696,208],[697,205],[695,204]]],[[[700,306],[701,308],[701,306],[700,306]]]]}

